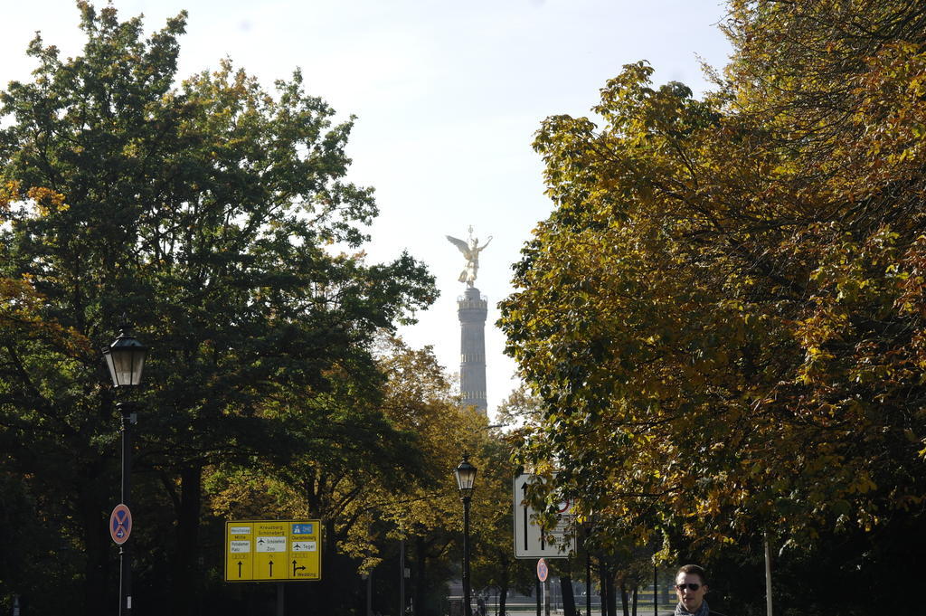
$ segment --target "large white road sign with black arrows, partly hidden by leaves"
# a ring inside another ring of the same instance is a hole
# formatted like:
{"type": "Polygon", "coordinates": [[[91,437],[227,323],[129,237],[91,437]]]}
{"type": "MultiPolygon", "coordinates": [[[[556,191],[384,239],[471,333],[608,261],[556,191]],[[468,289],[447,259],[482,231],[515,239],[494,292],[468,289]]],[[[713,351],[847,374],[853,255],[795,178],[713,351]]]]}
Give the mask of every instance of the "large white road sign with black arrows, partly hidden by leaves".
{"type": "Polygon", "coordinates": [[[532,474],[515,477],[515,558],[565,559],[576,549],[575,534],[571,532],[572,503],[559,504],[559,520],[552,529],[542,529],[534,519],[534,509],[525,498],[527,486],[535,481],[532,474]],[[550,538],[552,536],[552,541],[550,538]]]}

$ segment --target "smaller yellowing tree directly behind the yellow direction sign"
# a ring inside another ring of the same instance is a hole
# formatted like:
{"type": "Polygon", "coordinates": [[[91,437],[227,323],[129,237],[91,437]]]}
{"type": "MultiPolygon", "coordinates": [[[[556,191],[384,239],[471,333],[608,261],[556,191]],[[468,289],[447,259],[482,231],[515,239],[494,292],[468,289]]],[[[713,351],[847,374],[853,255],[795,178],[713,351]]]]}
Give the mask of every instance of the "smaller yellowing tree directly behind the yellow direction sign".
{"type": "MultiPolygon", "coordinates": [[[[480,446],[473,434],[481,434],[484,418],[460,407],[430,348],[411,349],[383,336],[377,356],[382,390],[365,395],[361,385],[375,379],[354,383],[349,374],[338,374],[332,392],[319,403],[335,409],[325,421],[309,424],[291,415],[286,422],[298,431],[294,438],[314,444],[307,453],[223,465],[209,475],[211,506],[225,519],[268,511],[321,518],[326,573],[306,596],[325,613],[365,605],[357,588],[362,587],[359,574],[369,572],[377,588],[374,606],[393,610],[397,586],[378,581],[393,578],[397,547],[404,540],[412,573],[407,598],[420,613],[436,614],[456,564],[451,557],[457,553],[460,515],[452,471],[461,450],[480,446]],[[345,600],[352,595],[356,601],[345,600]]],[[[315,403],[300,404],[271,401],[268,407],[276,413],[315,403]]]]}

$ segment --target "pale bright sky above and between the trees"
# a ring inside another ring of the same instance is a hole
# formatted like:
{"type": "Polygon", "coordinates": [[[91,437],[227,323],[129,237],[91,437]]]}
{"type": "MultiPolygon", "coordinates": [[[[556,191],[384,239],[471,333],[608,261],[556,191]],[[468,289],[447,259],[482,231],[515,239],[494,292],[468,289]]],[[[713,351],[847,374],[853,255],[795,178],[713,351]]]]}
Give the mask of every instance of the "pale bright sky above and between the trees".
{"type": "MultiPolygon", "coordinates": [[[[100,0],[95,6],[104,6],[100,0]]],[[[440,297],[400,334],[430,345],[459,371],[457,275],[465,260],[445,235],[481,243],[476,286],[489,302],[486,363],[490,417],[517,387],[517,366],[494,326],[511,294],[511,266],[552,203],[532,150],[547,116],[588,116],[624,64],[644,59],[657,84],[709,89],[701,62],[731,53],[718,28],[720,0],[113,0],[120,19],[144,14],[146,32],[185,9],[178,76],[230,57],[266,87],[303,71],[307,94],[339,118],[357,116],[348,179],[376,189],[370,262],[403,250],[427,264],[440,297]]],[[[0,38],[0,87],[28,80],[25,49],[41,31],[65,57],[80,53],[72,0],[10,2],[0,38]]]]}

